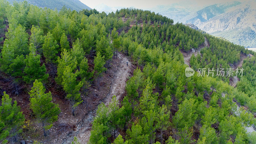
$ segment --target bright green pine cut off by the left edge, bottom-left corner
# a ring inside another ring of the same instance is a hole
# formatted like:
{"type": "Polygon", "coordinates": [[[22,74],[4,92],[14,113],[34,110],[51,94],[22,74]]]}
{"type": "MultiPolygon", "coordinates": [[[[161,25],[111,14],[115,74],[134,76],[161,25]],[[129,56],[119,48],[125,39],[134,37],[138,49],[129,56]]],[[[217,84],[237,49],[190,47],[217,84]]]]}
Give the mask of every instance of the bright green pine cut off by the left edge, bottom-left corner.
{"type": "MultiPolygon", "coordinates": [[[[22,132],[21,126],[24,124],[24,120],[24,115],[20,111],[20,107],[17,106],[17,101],[15,100],[12,103],[12,98],[4,92],[2,105],[0,106],[0,121],[5,125],[2,129],[3,132],[8,131],[9,137],[12,137],[14,142],[17,142],[18,134],[22,132]]],[[[6,136],[6,134],[4,135],[6,136]]]]}

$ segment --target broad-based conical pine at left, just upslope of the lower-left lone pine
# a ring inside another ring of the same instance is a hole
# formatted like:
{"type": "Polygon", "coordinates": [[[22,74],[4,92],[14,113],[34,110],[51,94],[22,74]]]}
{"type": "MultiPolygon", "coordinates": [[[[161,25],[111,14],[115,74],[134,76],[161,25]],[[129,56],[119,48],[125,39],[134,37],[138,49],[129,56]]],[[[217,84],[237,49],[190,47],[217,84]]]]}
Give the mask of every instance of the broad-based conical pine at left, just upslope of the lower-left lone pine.
{"type": "Polygon", "coordinates": [[[26,67],[24,68],[25,76],[23,79],[26,83],[32,83],[36,79],[38,81],[47,82],[49,74],[45,74],[46,68],[43,64],[40,65],[40,55],[36,54],[36,49],[33,43],[29,47],[30,53],[26,59],[26,67]]]}

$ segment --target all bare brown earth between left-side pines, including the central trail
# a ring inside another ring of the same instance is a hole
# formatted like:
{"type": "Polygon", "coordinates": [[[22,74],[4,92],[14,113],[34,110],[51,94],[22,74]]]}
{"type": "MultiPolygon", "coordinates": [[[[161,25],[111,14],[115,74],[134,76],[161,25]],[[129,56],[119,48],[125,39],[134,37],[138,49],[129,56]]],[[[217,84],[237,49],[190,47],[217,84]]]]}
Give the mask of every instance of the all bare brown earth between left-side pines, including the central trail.
{"type": "MultiPolygon", "coordinates": [[[[89,57],[88,64],[92,71],[93,60],[89,57]]],[[[100,78],[99,89],[97,84],[91,83],[88,95],[82,95],[84,102],[77,107],[76,116],[73,116],[69,101],[65,99],[65,92],[54,82],[56,66],[48,65],[47,73],[50,74],[50,77],[49,83],[45,85],[46,92],[52,92],[52,102],[59,104],[61,112],[58,121],[53,123],[47,137],[43,136],[42,126],[38,124],[29,108],[28,92],[32,84],[25,84],[21,80],[19,83],[15,83],[14,78],[0,73],[0,94],[2,95],[6,91],[13,101],[17,100],[26,121],[30,121],[30,126],[25,128],[22,133],[22,140],[25,142],[37,140],[42,143],[71,143],[76,136],[81,143],[87,143],[98,105],[101,102],[107,104],[113,95],[122,100],[125,95],[126,81],[129,76],[132,76],[134,68],[136,67],[123,54],[118,53],[117,59],[111,61],[106,73],[103,73],[100,78]],[[129,62],[128,67],[126,67],[126,61],[129,62]]]]}

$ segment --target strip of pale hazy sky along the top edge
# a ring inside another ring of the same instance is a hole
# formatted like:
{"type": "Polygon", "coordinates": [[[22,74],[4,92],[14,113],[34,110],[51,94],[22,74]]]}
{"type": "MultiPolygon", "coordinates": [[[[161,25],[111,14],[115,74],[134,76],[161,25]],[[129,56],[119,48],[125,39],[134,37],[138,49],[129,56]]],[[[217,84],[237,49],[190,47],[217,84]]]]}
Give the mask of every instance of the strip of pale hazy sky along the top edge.
{"type": "MultiPolygon", "coordinates": [[[[94,8],[99,4],[105,4],[110,7],[115,6],[122,6],[122,7],[135,7],[140,9],[147,9],[154,7],[156,5],[165,5],[165,4],[173,4],[179,3],[181,0],[80,0],[82,3],[86,4],[87,6],[94,8]]],[[[187,0],[182,0],[187,1],[187,0]]],[[[198,6],[205,6],[217,3],[225,3],[225,2],[232,2],[235,0],[189,0],[191,2],[195,2],[198,6]]],[[[236,0],[236,1],[244,1],[244,0],[236,0]]]]}

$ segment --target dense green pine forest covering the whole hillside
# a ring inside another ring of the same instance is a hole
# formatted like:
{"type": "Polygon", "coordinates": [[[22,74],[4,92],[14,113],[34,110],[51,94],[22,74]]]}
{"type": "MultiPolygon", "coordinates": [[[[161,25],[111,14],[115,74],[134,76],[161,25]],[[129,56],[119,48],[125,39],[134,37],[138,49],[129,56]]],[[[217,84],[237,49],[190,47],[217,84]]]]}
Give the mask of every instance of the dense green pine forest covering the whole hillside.
{"type": "Polygon", "coordinates": [[[0,4],[0,143],[256,143],[255,52],[150,11],[0,4]]]}

